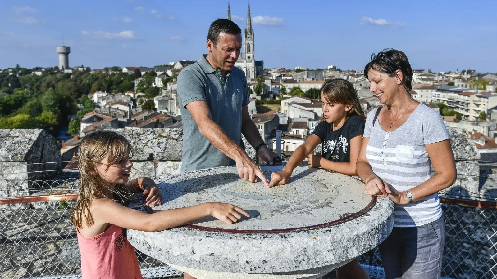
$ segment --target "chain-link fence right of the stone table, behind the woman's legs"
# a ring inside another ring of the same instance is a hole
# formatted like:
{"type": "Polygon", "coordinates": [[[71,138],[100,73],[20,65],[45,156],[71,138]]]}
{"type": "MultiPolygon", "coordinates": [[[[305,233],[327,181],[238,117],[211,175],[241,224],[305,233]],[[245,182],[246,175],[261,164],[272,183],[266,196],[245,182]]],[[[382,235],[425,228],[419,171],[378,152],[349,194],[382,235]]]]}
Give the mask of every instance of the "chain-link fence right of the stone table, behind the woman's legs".
{"type": "MultiPolygon", "coordinates": [[[[465,191],[441,192],[440,201],[446,230],[442,277],[497,279],[496,201],[465,191]]],[[[359,262],[372,278],[385,278],[377,248],[359,262]]]]}

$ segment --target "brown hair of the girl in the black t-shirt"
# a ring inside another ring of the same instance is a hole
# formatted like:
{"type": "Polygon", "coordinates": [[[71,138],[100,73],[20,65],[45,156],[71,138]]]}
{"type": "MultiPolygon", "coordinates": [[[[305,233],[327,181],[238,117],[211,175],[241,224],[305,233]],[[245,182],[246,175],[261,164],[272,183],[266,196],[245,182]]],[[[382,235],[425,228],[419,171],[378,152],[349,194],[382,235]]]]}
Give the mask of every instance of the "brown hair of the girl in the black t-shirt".
{"type": "MultiPolygon", "coordinates": [[[[352,106],[352,109],[347,112],[347,116],[357,115],[362,121],[366,121],[366,116],[361,107],[361,101],[354,85],[350,81],[342,78],[333,78],[327,80],[319,93],[323,93],[325,100],[332,104],[342,104],[345,106],[352,106]]],[[[324,121],[324,118],[321,119],[324,121]]]]}

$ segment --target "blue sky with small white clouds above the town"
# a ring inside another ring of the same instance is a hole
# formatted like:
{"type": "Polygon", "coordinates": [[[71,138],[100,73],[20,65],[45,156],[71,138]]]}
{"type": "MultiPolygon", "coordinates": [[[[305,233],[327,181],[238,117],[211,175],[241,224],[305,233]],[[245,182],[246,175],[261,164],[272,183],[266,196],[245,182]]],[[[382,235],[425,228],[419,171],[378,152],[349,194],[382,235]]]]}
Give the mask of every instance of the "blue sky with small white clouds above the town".
{"type": "MultiPolygon", "coordinates": [[[[226,0],[3,0],[0,69],[154,66],[206,53],[209,24],[226,0]]],[[[247,1],[232,0],[243,29],[247,1]]],[[[362,70],[373,52],[404,51],[415,69],[497,72],[495,0],[252,0],[255,58],[265,68],[334,65],[362,70]],[[256,17],[256,19],[255,19],[256,17]]]]}

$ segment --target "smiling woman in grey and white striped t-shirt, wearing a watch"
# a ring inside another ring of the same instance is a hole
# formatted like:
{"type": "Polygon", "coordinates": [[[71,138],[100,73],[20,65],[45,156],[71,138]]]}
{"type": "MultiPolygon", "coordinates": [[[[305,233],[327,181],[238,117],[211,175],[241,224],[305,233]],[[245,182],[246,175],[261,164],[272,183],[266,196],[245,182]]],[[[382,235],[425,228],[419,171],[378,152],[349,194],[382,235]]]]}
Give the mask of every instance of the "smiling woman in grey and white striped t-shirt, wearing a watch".
{"type": "Polygon", "coordinates": [[[368,114],[357,159],[366,193],[395,203],[394,228],[379,247],[385,275],[439,279],[445,222],[437,192],[456,180],[449,134],[440,115],[410,94],[413,71],[403,52],[372,55],[364,75],[386,105],[368,114]]]}

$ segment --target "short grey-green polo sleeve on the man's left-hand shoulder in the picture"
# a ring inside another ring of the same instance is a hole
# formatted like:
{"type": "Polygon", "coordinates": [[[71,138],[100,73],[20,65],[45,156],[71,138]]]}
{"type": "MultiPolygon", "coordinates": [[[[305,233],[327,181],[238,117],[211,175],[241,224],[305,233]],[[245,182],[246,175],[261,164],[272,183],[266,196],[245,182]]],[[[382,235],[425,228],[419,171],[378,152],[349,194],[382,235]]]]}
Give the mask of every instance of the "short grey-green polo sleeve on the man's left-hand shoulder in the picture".
{"type": "Polygon", "coordinates": [[[207,100],[202,78],[191,70],[182,70],[177,77],[176,85],[179,101],[184,108],[191,102],[207,100]]]}

